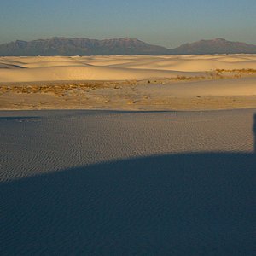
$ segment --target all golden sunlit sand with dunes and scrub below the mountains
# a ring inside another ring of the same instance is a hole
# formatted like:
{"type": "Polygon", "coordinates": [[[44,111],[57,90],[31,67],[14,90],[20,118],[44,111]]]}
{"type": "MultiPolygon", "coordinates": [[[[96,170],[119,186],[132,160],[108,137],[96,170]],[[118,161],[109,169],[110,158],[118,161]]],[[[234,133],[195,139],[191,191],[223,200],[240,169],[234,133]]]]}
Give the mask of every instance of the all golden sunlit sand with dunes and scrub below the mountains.
{"type": "Polygon", "coordinates": [[[0,58],[0,109],[256,108],[256,55],[0,58]]]}

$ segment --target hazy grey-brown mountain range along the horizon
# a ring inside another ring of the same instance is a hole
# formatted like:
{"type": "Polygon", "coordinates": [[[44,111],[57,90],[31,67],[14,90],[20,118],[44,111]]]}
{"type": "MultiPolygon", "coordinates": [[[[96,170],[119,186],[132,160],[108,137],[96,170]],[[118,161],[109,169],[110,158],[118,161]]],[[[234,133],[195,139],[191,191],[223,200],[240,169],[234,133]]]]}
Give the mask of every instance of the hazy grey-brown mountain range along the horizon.
{"type": "Polygon", "coordinates": [[[16,40],[0,44],[1,56],[35,55],[201,55],[256,54],[256,45],[231,42],[223,38],[182,44],[174,49],[147,44],[136,38],[96,40],[89,38],[49,38],[16,40]]]}

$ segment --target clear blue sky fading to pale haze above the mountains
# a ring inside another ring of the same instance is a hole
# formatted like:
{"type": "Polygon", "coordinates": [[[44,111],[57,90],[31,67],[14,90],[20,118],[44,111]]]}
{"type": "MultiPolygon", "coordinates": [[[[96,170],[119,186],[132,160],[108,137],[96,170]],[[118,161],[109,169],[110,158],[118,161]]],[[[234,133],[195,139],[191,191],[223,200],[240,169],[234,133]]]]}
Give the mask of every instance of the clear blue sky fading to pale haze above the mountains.
{"type": "Polygon", "coordinates": [[[0,0],[0,44],[38,38],[256,44],[256,0],[0,0]]]}

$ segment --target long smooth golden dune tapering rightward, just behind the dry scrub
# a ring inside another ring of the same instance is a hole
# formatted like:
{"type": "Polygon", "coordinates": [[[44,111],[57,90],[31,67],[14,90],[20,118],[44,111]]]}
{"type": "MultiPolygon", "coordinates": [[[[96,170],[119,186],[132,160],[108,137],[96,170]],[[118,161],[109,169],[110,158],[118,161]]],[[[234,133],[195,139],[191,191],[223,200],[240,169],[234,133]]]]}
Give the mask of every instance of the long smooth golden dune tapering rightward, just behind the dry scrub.
{"type": "Polygon", "coordinates": [[[177,75],[199,75],[166,70],[128,69],[122,67],[57,66],[23,69],[0,69],[1,82],[34,82],[60,80],[126,80],[149,78],[175,78],[177,75]]]}

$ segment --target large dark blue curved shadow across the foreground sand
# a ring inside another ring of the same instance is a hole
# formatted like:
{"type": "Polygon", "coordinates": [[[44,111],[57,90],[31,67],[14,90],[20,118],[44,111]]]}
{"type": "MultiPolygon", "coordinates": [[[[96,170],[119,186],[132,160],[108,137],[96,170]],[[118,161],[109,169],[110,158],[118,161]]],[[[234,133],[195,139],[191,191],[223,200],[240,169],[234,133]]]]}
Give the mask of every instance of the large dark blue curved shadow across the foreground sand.
{"type": "Polygon", "coordinates": [[[169,154],[0,184],[1,255],[253,255],[255,154],[169,154]]]}

